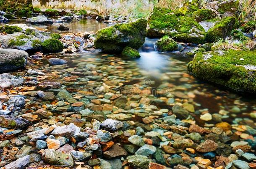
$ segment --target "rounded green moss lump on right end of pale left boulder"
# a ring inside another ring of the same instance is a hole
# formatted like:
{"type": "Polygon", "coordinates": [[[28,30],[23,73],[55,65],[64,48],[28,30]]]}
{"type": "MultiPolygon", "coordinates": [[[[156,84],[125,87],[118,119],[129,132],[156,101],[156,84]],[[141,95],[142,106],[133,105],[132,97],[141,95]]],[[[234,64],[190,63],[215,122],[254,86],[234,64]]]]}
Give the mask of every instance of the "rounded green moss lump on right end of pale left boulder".
{"type": "Polygon", "coordinates": [[[63,44],[57,39],[47,39],[42,43],[42,48],[46,53],[57,53],[63,50],[63,44]]]}

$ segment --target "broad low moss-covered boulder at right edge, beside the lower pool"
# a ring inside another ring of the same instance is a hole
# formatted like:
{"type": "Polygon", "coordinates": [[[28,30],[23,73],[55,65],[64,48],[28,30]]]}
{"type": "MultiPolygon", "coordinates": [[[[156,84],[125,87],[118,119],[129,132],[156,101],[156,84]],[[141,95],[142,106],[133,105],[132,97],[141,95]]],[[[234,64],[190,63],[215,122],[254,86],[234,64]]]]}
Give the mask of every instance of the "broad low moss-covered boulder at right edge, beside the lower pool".
{"type": "Polygon", "coordinates": [[[235,91],[256,93],[256,51],[197,53],[188,63],[188,71],[235,91]]]}

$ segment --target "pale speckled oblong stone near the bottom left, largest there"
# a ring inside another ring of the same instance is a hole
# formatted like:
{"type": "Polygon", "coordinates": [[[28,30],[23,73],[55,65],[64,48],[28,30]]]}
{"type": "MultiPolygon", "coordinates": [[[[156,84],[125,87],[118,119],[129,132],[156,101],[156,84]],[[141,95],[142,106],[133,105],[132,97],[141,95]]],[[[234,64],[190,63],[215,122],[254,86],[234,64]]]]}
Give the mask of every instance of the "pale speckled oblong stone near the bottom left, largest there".
{"type": "Polygon", "coordinates": [[[42,160],[52,166],[73,166],[74,164],[71,155],[53,149],[45,149],[42,154],[42,160]]]}

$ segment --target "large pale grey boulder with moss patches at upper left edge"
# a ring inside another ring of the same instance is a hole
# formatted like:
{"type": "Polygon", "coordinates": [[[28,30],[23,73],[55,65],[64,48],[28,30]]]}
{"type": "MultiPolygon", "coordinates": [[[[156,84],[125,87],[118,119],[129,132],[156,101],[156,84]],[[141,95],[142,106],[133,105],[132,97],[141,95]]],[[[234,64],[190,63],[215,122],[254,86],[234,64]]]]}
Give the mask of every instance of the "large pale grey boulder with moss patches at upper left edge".
{"type": "Polygon", "coordinates": [[[4,25],[0,27],[0,41],[3,48],[13,48],[25,51],[44,50],[47,53],[59,52],[63,49],[63,44],[57,40],[58,33],[44,32],[25,24],[4,25]]]}

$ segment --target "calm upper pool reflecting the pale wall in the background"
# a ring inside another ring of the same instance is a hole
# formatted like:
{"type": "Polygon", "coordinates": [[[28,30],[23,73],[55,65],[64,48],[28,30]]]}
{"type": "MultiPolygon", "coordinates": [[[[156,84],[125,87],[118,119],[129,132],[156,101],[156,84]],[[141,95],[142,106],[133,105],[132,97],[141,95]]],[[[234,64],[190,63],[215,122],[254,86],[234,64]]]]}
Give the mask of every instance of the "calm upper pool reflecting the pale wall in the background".
{"type": "MultiPolygon", "coordinates": [[[[25,23],[26,24],[26,19],[12,19],[7,24],[15,24],[15,23],[25,23]]],[[[69,30],[65,30],[65,31],[57,30],[57,27],[54,26],[54,24],[53,25],[26,24],[26,25],[32,26],[39,30],[45,30],[45,31],[53,32],[53,33],[78,33],[78,32],[83,33],[85,31],[97,31],[99,29],[109,26],[107,23],[98,22],[97,20],[90,19],[90,18],[81,19],[81,20],[73,19],[72,22],[64,23],[64,24],[69,28],[69,30]]]]}

